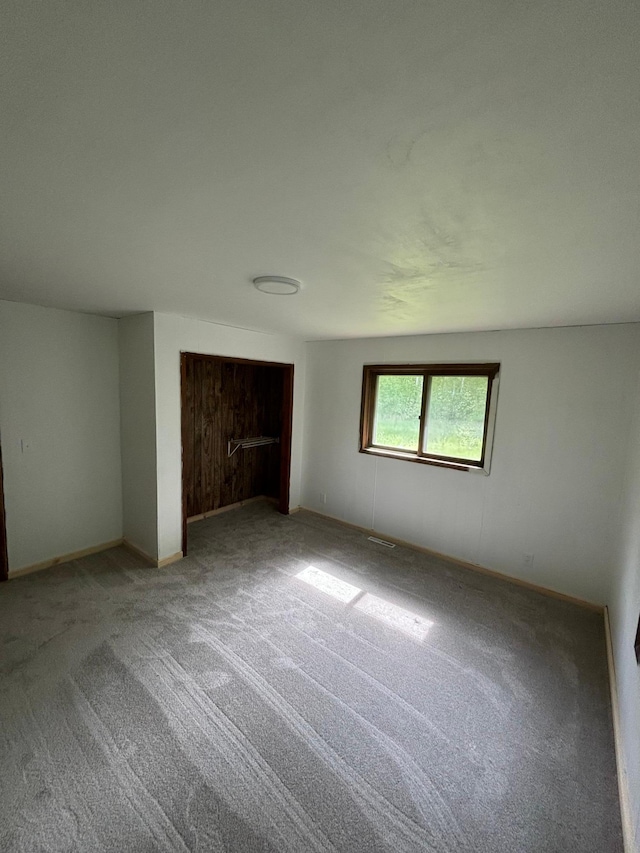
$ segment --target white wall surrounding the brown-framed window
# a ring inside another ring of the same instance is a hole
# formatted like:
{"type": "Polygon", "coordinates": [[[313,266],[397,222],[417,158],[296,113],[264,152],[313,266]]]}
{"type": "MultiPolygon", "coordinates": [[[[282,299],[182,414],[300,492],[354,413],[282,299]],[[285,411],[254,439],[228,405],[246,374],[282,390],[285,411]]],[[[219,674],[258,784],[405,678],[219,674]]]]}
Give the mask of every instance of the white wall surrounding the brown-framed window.
{"type": "Polygon", "coordinates": [[[303,505],[604,603],[639,349],[638,324],[309,344],[303,505]],[[362,366],[394,361],[502,363],[489,476],[358,453],[362,366]]]}

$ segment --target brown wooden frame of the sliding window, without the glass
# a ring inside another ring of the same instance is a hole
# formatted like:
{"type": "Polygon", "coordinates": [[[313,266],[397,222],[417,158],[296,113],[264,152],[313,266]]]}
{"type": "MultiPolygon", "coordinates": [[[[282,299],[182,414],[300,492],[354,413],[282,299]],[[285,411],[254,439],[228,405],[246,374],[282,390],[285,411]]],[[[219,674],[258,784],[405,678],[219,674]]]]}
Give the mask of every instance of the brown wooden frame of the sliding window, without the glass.
{"type": "Polygon", "coordinates": [[[488,473],[488,458],[493,439],[493,419],[495,418],[495,403],[497,379],[500,364],[497,362],[483,364],[365,364],[362,370],[362,405],[360,412],[360,453],[372,456],[383,456],[390,459],[403,459],[406,462],[418,462],[422,465],[437,465],[442,468],[453,468],[457,471],[484,469],[488,473]],[[379,376],[422,376],[422,403],[420,411],[420,428],[418,434],[418,449],[416,451],[400,450],[373,443],[373,426],[375,420],[376,391],[379,376]],[[486,376],[487,404],[484,417],[482,437],[482,456],[480,460],[462,459],[459,457],[443,456],[424,451],[424,432],[427,425],[427,409],[429,405],[430,379],[433,376],[486,376]]]}

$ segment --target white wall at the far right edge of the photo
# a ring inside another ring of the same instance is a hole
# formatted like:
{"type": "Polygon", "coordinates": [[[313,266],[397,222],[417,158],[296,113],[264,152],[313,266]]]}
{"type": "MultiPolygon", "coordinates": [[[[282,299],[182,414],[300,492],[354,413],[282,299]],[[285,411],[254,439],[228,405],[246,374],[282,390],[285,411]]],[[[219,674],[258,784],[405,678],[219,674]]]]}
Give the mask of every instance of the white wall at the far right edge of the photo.
{"type": "MultiPolygon", "coordinates": [[[[640,360],[636,362],[640,365],[640,360]]],[[[640,670],[634,640],[640,614],[640,386],[631,433],[618,571],[609,602],[618,682],[624,771],[630,794],[634,849],[640,850],[640,670]]]]}

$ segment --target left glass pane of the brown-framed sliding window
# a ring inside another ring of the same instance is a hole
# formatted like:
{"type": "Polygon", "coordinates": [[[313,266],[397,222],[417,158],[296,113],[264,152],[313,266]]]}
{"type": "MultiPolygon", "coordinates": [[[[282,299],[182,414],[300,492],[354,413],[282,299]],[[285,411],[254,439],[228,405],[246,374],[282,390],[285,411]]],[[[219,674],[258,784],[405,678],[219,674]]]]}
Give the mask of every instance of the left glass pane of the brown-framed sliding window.
{"type": "Polygon", "coordinates": [[[373,443],[418,449],[422,376],[378,376],[373,443]]]}

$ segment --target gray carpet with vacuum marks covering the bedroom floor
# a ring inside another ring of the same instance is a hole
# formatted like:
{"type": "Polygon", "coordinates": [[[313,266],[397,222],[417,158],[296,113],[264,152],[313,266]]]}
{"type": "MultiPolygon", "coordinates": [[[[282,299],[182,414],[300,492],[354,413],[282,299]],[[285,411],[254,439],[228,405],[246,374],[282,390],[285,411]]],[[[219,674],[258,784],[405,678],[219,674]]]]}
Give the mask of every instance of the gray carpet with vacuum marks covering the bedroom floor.
{"type": "Polygon", "coordinates": [[[601,616],[266,503],[190,537],[0,588],[2,851],[622,850],[601,616]]]}

